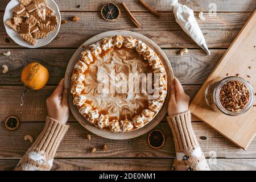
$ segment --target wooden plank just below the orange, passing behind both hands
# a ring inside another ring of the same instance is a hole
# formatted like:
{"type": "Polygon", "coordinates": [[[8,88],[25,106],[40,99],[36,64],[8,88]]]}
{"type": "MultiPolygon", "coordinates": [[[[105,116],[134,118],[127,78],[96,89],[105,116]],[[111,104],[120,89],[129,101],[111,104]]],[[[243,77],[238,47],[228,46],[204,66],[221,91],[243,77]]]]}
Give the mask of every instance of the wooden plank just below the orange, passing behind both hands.
{"type": "MultiPolygon", "coordinates": [[[[9,115],[16,115],[20,121],[36,122],[44,121],[47,115],[46,98],[51,95],[56,86],[46,86],[42,90],[31,90],[23,97],[24,104],[20,106],[20,95],[22,94],[23,86],[0,86],[0,122],[3,122],[9,115]],[[31,114],[34,113],[34,114],[31,114]]],[[[200,85],[185,85],[185,92],[192,98],[195,96],[200,85]]],[[[199,121],[193,118],[194,121],[199,121]]],[[[69,121],[76,121],[71,115],[69,121]]],[[[165,121],[165,118],[164,118],[165,121]]]]}

